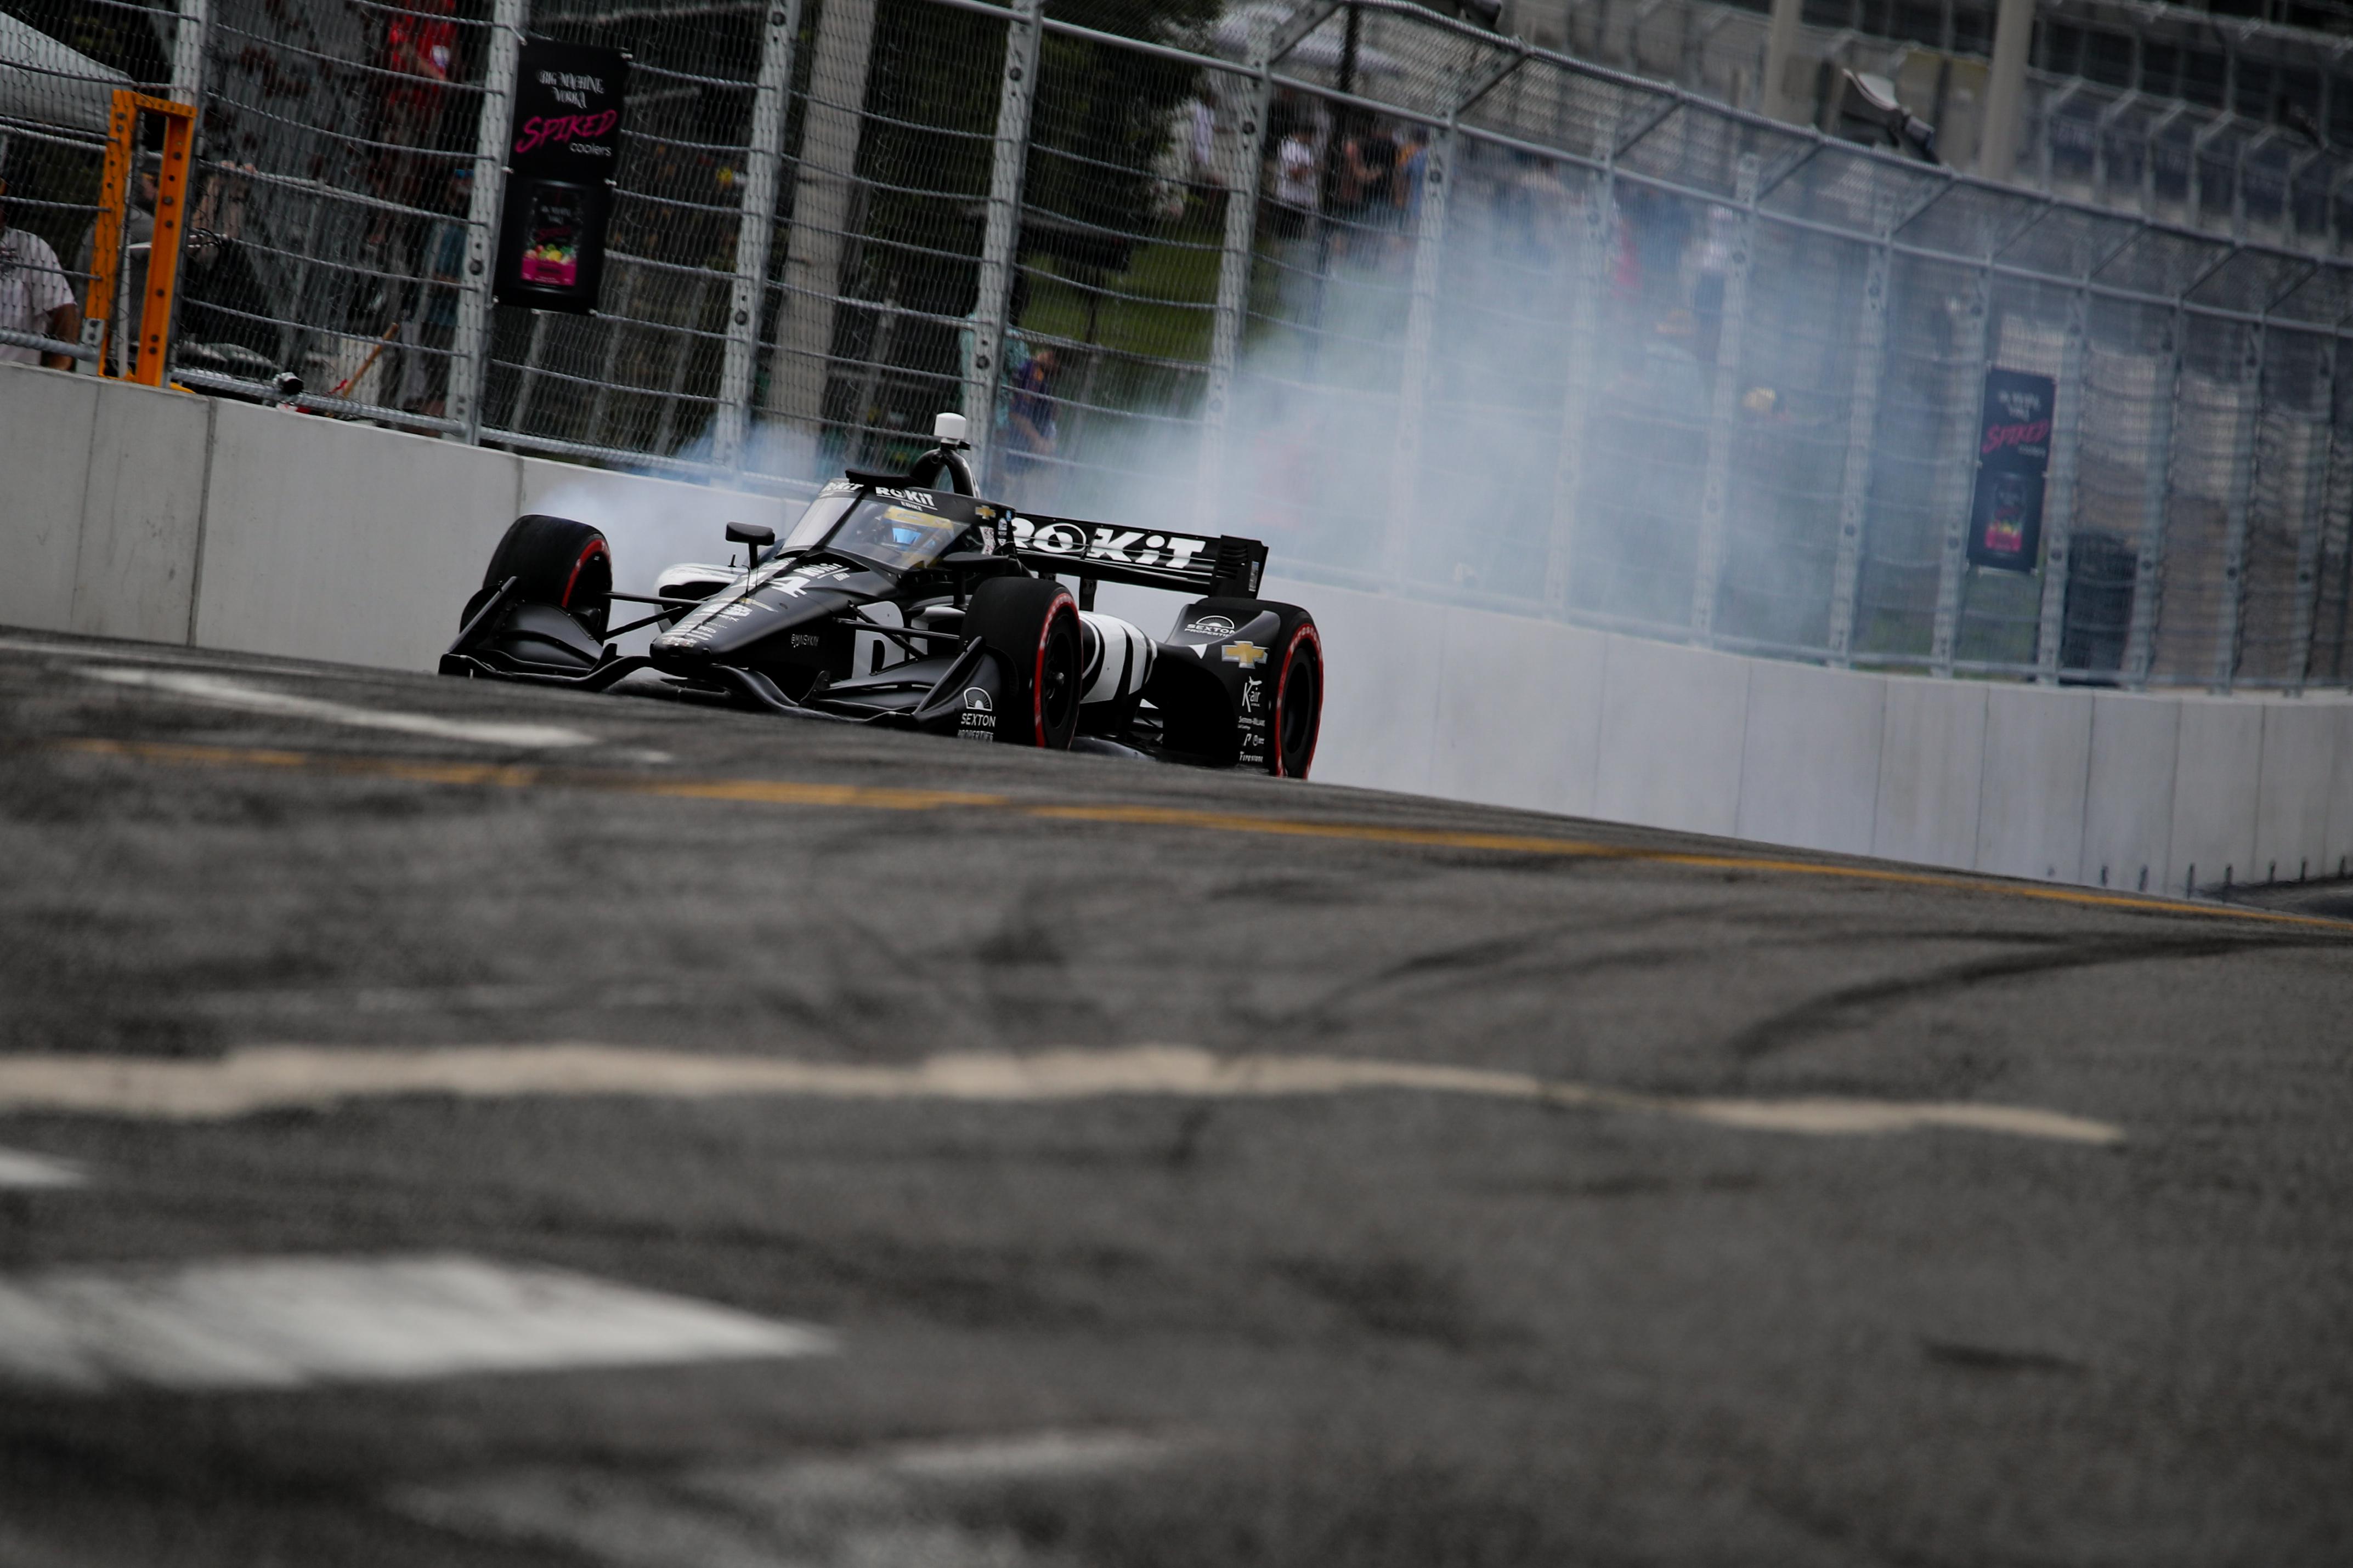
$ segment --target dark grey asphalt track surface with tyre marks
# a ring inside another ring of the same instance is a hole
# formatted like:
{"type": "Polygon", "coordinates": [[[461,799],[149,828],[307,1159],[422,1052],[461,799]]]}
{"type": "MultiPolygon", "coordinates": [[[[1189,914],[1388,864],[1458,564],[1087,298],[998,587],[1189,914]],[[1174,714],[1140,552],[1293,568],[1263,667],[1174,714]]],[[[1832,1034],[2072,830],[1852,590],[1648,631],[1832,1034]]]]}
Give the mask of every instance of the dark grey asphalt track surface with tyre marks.
{"type": "Polygon", "coordinates": [[[0,1150],[85,1178],[0,1284],[459,1255],[833,1347],[19,1375],[12,1566],[2353,1561],[2344,898],[28,632],[0,867],[0,1150]]]}

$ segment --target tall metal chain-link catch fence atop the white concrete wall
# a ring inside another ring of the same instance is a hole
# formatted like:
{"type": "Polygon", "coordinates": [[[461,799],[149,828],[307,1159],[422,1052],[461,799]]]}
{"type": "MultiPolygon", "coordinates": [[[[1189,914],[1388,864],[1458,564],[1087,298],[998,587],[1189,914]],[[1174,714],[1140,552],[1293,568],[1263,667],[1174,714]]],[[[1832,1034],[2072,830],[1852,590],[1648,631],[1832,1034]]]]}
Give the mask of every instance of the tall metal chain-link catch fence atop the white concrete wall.
{"type": "MultiPolygon", "coordinates": [[[[786,491],[955,407],[993,494],[1339,585],[1939,675],[2353,679],[2353,268],[2318,240],[1402,0],[5,7],[96,92],[200,89],[195,386],[292,369],[346,416],[786,491]],[[633,61],[598,315],[487,301],[527,33],[633,61]],[[1988,369],[2059,386],[2031,571],[1969,564],[1988,369]]],[[[66,256],[92,132],[26,101],[9,200],[66,256]]]]}

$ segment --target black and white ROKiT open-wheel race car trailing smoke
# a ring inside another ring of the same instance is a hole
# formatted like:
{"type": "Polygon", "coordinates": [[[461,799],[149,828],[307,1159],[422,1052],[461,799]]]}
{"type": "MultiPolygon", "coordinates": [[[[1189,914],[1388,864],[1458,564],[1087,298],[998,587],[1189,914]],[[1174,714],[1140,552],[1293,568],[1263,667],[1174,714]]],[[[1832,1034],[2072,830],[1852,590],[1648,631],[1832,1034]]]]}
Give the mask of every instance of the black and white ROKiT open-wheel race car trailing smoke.
{"type": "Polygon", "coordinates": [[[784,541],[727,524],[744,567],[671,567],[652,597],[614,592],[598,529],[518,517],[440,672],[1306,776],[1322,642],[1308,611],[1257,597],[1264,543],[981,501],[962,437],[941,414],[911,473],[833,480],[784,541]],[[1195,597],[1153,639],[1096,614],[1096,583],[1195,597]],[[614,602],[652,614],[607,625],[614,602]],[[645,654],[607,642],[652,625],[645,654]]]}

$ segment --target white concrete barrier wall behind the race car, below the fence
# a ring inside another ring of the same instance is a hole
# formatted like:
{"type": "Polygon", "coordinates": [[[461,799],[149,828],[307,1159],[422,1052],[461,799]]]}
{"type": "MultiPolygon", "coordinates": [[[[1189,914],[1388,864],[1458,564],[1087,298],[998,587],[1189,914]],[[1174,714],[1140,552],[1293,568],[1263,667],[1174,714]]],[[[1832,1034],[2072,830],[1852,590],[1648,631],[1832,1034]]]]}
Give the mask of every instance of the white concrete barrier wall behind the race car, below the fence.
{"type": "MultiPolygon", "coordinates": [[[[798,505],[0,367],[0,623],[431,670],[520,512],[619,585],[798,505]]],[[[1892,860],[2184,891],[2353,867],[2344,693],[2169,696],[1739,658],[1322,588],[1315,776],[1892,860]]],[[[1179,599],[1106,588],[1165,635],[1179,599]]]]}

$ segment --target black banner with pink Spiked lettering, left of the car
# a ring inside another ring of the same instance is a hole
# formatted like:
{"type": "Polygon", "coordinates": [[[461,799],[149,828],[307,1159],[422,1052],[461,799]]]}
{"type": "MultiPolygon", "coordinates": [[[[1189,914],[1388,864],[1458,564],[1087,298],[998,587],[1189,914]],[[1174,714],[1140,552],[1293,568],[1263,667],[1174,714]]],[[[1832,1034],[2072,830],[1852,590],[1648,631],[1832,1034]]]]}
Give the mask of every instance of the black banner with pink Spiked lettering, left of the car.
{"type": "Polygon", "coordinates": [[[525,40],[492,277],[501,306],[595,310],[626,94],[619,49],[525,40]]]}

